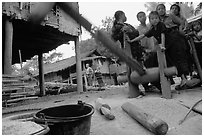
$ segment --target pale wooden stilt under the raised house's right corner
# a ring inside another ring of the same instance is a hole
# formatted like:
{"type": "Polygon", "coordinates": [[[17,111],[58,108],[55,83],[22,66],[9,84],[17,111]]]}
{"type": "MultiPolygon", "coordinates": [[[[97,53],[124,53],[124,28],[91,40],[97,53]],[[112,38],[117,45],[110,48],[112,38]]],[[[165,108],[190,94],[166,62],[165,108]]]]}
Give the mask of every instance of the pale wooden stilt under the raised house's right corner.
{"type": "Polygon", "coordinates": [[[79,37],[76,37],[76,39],[75,39],[75,53],[76,53],[77,91],[78,91],[78,93],[81,93],[81,92],[83,92],[83,83],[82,83],[79,37]]]}

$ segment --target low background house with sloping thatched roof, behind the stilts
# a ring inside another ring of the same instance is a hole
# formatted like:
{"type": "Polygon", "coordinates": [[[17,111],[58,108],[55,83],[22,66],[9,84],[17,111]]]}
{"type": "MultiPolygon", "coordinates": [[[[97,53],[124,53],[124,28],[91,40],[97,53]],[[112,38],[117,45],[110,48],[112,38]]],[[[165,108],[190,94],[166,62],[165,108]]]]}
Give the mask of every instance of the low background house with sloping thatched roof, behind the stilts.
{"type": "MultiPolygon", "coordinates": [[[[93,70],[100,67],[103,81],[106,85],[116,85],[116,75],[124,72],[126,69],[124,65],[119,65],[112,59],[108,59],[98,53],[96,49],[81,54],[82,62],[82,78],[83,83],[87,85],[85,66],[90,64],[93,70]]],[[[34,74],[38,79],[38,73],[34,74]]],[[[45,82],[66,82],[70,84],[77,84],[76,80],[76,57],[72,56],[55,63],[45,64],[44,66],[45,82]]],[[[97,82],[95,80],[95,85],[97,82]]]]}

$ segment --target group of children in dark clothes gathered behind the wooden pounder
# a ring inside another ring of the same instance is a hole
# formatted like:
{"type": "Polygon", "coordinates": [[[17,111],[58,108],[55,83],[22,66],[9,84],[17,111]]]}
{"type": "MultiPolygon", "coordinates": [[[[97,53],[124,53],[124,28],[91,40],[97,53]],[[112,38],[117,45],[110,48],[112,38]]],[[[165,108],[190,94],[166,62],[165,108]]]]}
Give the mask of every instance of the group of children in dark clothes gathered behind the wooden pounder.
{"type": "MultiPolygon", "coordinates": [[[[185,30],[188,27],[187,20],[181,15],[180,6],[173,4],[170,7],[170,13],[166,14],[164,4],[158,4],[155,11],[149,14],[149,23],[146,24],[146,14],[141,11],[137,13],[137,19],[140,25],[134,28],[125,23],[127,18],[123,11],[115,12],[115,20],[112,27],[112,38],[120,41],[121,47],[124,47],[123,34],[128,36],[132,57],[140,62],[145,68],[158,67],[155,45],[158,45],[166,55],[167,66],[176,66],[178,77],[181,77],[180,85],[177,90],[187,88],[187,76],[191,74],[192,63],[189,62],[189,45],[185,37],[185,30]]],[[[201,23],[195,24],[192,29],[201,41],[202,33],[200,31],[201,23]],[[199,27],[196,25],[200,25],[199,27]]],[[[200,42],[199,41],[199,42],[200,42]]],[[[201,41],[202,42],[202,41],[201,41]]],[[[200,43],[199,43],[200,44],[200,43]]],[[[201,49],[201,45],[199,46],[201,49]]],[[[202,50],[198,49],[200,61],[202,59],[202,50]]],[[[173,84],[173,78],[169,78],[173,84]]],[[[151,83],[160,89],[160,82],[151,83]]],[[[143,85],[148,90],[148,84],[143,85]]]]}

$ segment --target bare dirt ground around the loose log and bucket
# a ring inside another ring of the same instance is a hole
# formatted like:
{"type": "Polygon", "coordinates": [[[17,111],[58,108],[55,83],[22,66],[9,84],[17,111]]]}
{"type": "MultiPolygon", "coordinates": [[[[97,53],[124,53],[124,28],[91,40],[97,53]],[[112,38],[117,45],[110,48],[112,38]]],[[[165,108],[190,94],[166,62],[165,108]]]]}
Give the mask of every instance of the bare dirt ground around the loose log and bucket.
{"type": "MultiPolygon", "coordinates": [[[[95,110],[91,119],[91,135],[152,135],[150,131],[132,119],[121,106],[125,102],[130,102],[144,111],[162,119],[168,126],[168,135],[202,135],[202,115],[191,112],[182,125],[178,125],[188,108],[180,103],[192,106],[202,98],[202,89],[183,90],[178,94],[173,92],[172,99],[161,98],[159,93],[147,93],[142,98],[128,98],[128,86],[112,86],[104,91],[87,91],[81,94],[76,92],[40,97],[36,100],[27,100],[19,103],[18,106],[4,108],[2,113],[9,113],[23,109],[43,109],[66,104],[76,104],[82,100],[95,106],[97,98],[103,98],[108,103],[115,119],[110,121],[105,119],[95,110]]],[[[199,104],[202,108],[202,103],[199,104]]]]}

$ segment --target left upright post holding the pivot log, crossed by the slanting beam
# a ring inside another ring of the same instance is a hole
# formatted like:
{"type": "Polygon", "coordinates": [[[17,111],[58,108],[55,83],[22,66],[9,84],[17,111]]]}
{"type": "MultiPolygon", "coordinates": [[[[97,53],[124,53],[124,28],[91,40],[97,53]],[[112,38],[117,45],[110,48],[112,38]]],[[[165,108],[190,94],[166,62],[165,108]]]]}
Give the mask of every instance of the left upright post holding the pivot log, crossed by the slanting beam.
{"type": "MultiPolygon", "coordinates": [[[[123,34],[123,40],[124,40],[124,50],[127,54],[132,56],[131,49],[130,49],[130,44],[127,43],[126,41],[126,34],[123,34]]],[[[134,98],[140,95],[139,87],[138,84],[134,84],[131,79],[130,75],[132,73],[132,69],[128,66],[127,64],[127,77],[128,77],[128,86],[129,86],[129,98],[134,98]]]]}

